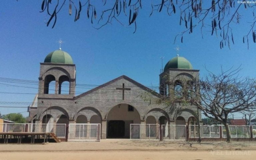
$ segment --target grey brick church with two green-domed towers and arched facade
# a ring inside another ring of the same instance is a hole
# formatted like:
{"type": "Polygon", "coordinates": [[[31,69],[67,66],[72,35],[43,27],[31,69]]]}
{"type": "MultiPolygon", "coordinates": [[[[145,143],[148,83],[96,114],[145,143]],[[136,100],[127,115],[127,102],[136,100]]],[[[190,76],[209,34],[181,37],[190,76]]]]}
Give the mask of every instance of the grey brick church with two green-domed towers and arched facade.
{"type": "Polygon", "coordinates": [[[182,90],[183,84],[199,79],[199,70],[177,55],[167,62],[159,78],[159,93],[122,75],[76,96],[76,65],[67,52],[56,50],[40,63],[38,94],[34,99],[37,105],[31,106],[29,118],[33,123],[67,126],[99,123],[102,139],[129,138],[130,124],[194,123],[195,107],[177,104],[180,107],[177,110],[177,107],[145,101],[141,95],[147,94],[152,99],[176,96],[176,90],[182,90]],[[55,84],[53,92],[50,83],[55,84]],[[63,94],[63,84],[68,84],[68,94],[63,94]]]}

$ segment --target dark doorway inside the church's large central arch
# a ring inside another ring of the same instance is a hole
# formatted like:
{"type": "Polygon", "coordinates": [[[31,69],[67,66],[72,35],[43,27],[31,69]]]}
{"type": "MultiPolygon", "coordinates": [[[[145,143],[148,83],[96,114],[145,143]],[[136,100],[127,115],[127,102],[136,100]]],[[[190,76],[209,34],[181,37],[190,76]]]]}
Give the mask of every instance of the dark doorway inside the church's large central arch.
{"type": "Polygon", "coordinates": [[[123,138],[125,133],[125,122],[111,120],[108,122],[107,138],[123,138]]]}

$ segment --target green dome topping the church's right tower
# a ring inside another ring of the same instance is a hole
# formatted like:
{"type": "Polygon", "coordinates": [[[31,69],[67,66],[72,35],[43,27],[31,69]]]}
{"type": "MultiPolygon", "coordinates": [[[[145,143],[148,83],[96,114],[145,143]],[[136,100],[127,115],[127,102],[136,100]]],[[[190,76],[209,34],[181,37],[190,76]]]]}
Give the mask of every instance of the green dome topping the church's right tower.
{"type": "Polygon", "coordinates": [[[174,69],[193,69],[191,63],[184,57],[174,57],[169,62],[166,63],[164,71],[169,68],[174,69]]]}

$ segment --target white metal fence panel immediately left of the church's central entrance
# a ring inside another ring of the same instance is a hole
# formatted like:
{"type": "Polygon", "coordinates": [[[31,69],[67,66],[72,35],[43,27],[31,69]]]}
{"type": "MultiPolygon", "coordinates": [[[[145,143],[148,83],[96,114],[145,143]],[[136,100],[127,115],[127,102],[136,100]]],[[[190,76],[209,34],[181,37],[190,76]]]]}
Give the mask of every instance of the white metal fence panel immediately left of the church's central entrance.
{"type": "Polygon", "coordinates": [[[69,124],[69,141],[100,141],[101,125],[93,123],[69,124]]]}

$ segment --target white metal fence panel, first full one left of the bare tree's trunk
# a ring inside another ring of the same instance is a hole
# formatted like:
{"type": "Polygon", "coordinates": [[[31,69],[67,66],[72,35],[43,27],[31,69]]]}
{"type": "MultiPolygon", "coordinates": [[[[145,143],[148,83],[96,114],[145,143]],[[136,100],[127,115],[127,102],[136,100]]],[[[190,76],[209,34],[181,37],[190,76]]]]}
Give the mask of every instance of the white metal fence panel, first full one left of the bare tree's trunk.
{"type": "MultiPolygon", "coordinates": [[[[200,125],[200,135],[202,138],[220,138],[220,126],[200,125]]],[[[198,125],[189,125],[189,137],[199,137],[198,125]]]]}

